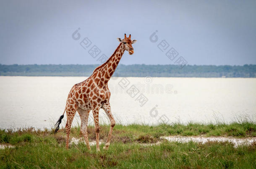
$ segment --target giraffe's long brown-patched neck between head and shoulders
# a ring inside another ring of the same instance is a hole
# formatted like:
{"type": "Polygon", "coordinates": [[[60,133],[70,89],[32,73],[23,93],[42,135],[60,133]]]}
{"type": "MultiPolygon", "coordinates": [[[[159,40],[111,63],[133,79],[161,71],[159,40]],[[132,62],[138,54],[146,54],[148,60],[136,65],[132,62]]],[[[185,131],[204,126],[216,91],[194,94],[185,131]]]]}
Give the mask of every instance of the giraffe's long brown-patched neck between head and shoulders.
{"type": "Polygon", "coordinates": [[[107,82],[110,80],[111,76],[115,72],[115,69],[118,66],[118,63],[122,58],[124,52],[125,50],[123,43],[120,43],[118,45],[118,48],[116,48],[115,52],[110,56],[110,58],[93,71],[92,77],[96,79],[98,85],[104,86],[107,84],[107,82]]]}

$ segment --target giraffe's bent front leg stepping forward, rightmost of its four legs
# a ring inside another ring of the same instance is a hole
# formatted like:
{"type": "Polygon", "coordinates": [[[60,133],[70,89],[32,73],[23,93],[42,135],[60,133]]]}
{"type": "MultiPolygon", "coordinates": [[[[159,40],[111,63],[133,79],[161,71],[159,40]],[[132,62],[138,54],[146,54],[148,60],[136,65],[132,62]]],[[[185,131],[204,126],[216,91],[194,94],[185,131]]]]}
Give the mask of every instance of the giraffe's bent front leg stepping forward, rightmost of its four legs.
{"type": "Polygon", "coordinates": [[[111,140],[111,137],[112,137],[112,131],[113,131],[113,128],[115,126],[115,119],[113,118],[113,116],[111,114],[110,103],[105,103],[102,108],[106,112],[108,118],[110,119],[110,132],[108,134],[106,144],[103,147],[103,149],[108,150],[108,148],[110,146],[110,140],[111,140]]]}

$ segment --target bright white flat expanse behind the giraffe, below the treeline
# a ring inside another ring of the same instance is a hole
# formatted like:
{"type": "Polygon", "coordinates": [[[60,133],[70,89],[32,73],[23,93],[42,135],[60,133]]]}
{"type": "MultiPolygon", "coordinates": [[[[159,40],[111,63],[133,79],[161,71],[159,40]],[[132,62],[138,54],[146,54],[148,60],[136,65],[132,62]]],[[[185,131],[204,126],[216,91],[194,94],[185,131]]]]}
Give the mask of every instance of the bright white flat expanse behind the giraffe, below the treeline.
{"type": "MultiPolygon", "coordinates": [[[[0,128],[50,128],[75,83],[86,77],[0,76],[0,128]]],[[[229,123],[256,120],[256,78],[114,77],[109,81],[118,123],[229,123]]],[[[100,110],[101,123],[108,123],[100,110]]],[[[66,115],[62,126],[65,126],[66,115]]],[[[73,121],[80,123],[78,113],[73,121]]],[[[93,123],[90,113],[90,124],[93,123]]]]}

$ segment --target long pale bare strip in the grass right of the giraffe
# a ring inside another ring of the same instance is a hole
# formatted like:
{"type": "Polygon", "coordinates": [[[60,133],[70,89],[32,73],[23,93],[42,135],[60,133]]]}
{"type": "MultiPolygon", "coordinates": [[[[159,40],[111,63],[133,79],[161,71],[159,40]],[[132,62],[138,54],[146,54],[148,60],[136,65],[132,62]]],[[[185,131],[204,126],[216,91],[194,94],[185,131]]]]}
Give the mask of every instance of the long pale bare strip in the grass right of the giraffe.
{"type": "Polygon", "coordinates": [[[239,145],[250,145],[253,142],[256,142],[256,137],[251,138],[235,138],[235,137],[202,137],[202,136],[164,136],[160,137],[161,139],[166,139],[170,142],[181,142],[188,143],[189,141],[205,144],[208,141],[219,141],[225,142],[228,141],[234,144],[235,147],[239,145]]]}

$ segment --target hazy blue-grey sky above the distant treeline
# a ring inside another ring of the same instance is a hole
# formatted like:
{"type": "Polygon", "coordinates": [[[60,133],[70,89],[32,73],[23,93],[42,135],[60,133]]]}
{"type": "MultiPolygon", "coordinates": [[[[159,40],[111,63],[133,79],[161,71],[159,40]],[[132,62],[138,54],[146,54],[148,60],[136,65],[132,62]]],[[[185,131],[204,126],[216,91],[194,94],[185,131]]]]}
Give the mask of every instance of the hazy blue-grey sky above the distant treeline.
{"type": "Polygon", "coordinates": [[[175,64],[180,56],[190,65],[256,64],[255,9],[255,0],[1,0],[0,63],[99,64],[126,33],[137,40],[134,54],[123,55],[126,65],[175,64]],[[85,49],[84,38],[91,41],[85,49]],[[173,60],[165,55],[171,48],[173,60]]]}

